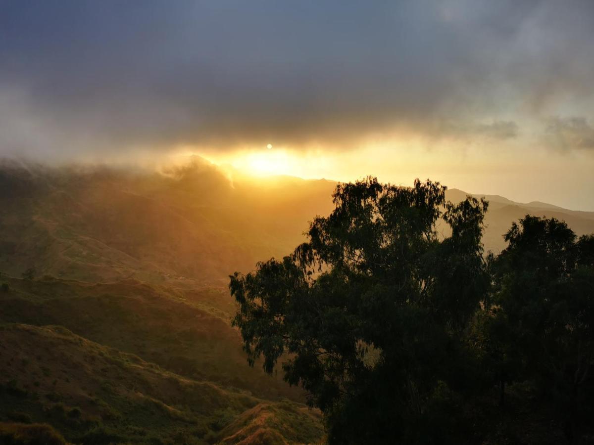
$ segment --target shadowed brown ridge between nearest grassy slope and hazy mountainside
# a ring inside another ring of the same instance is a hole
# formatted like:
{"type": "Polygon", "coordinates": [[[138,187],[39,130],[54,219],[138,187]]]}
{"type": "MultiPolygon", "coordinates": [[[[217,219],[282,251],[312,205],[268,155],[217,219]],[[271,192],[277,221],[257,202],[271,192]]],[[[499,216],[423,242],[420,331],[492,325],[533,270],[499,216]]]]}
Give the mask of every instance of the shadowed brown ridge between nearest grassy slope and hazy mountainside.
{"type": "MultiPolygon", "coordinates": [[[[137,355],[177,374],[264,398],[304,401],[302,392],[287,386],[280,376],[269,377],[258,365],[247,366],[238,332],[229,320],[212,313],[223,313],[222,309],[209,312],[198,307],[216,300],[217,291],[205,291],[202,298],[198,291],[169,295],[147,284],[86,285],[61,279],[12,279],[12,286],[14,295],[2,302],[0,319],[5,322],[58,325],[61,328],[57,329],[137,355]]],[[[43,377],[49,377],[47,373],[43,370],[43,377]]]]}

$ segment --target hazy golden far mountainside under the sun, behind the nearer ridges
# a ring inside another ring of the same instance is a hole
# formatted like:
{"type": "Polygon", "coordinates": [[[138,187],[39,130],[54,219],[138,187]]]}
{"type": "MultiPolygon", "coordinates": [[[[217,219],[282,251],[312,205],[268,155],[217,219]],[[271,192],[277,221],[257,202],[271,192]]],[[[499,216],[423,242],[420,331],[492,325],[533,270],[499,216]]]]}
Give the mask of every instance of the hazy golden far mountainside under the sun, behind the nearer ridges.
{"type": "MultiPolygon", "coordinates": [[[[0,167],[0,268],[27,268],[90,282],[226,285],[232,271],[290,253],[308,221],[333,207],[335,182],[237,177],[194,157],[164,173],[109,167],[0,167]]],[[[447,191],[462,201],[467,193],[447,191]]],[[[594,230],[594,212],[540,202],[489,201],[485,251],[500,252],[512,221],[527,213],[594,230]]]]}

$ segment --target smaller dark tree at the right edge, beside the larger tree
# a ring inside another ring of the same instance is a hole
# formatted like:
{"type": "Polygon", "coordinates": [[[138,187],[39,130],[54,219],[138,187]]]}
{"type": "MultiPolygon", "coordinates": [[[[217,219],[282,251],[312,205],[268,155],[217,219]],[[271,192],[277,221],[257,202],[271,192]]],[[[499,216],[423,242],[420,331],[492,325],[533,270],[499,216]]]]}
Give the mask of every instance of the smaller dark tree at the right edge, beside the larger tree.
{"type": "Polygon", "coordinates": [[[507,380],[533,381],[573,440],[594,415],[594,236],[527,215],[505,234],[495,262],[493,342],[507,380]],[[503,358],[505,357],[505,358],[503,358]]]}

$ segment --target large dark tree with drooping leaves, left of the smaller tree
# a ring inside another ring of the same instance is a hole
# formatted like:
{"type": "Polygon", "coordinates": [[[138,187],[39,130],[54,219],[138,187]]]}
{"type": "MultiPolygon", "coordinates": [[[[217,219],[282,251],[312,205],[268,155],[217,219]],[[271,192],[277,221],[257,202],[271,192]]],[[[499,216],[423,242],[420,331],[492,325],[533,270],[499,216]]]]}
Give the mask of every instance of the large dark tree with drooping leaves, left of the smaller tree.
{"type": "Polygon", "coordinates": [[[489,285],[487,203],[454,205],[444,192],[418,180],[339,185],[307,243],[230,277],[249,362],[263,355],[272,373],[283,357],[285,380],[324,412],[332,443],[467,437],[451,431],[462,422],[450,408],[475,383],[463,377],[474,365],[463,333],[489,285]]]}

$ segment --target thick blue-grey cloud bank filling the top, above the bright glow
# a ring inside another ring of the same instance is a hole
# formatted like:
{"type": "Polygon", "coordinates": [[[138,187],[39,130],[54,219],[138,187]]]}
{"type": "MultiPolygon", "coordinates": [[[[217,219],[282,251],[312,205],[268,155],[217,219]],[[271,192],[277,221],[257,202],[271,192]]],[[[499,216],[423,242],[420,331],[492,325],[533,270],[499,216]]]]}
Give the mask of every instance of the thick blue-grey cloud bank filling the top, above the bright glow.
{"type": "Polygon", "coordinates": [[[592,109],[569,3],[0,0],[0,154],[510,141],[592,109]]]}

